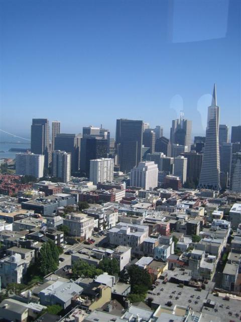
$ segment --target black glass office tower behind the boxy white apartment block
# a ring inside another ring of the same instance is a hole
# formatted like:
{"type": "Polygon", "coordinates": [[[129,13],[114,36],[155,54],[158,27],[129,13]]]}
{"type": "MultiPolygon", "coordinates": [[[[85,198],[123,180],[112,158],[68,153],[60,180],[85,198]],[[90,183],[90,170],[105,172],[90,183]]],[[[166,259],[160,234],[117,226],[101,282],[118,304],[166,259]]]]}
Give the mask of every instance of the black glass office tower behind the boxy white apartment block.
{"type": "Polygon", "coordinates": [[[84,136],[81,138],[80,171],[89,177],[90,160],[107,157],[107,140],[99,136],[84,136]]]}

